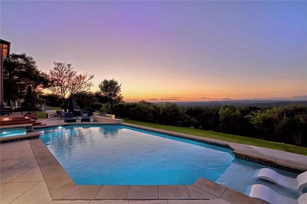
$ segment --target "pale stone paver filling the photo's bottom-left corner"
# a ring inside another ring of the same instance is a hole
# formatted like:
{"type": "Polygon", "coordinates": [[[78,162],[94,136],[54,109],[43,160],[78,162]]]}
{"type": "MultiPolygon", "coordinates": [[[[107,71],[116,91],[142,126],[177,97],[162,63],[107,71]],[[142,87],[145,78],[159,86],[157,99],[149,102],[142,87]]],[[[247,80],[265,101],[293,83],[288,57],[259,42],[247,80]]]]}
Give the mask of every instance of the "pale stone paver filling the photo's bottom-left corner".
{"type": "Polygon", "coordinates": [[[36,183],[37,182],[6,183],[1,187],[0,203],[6,204],[12,202],[36,183]]]}

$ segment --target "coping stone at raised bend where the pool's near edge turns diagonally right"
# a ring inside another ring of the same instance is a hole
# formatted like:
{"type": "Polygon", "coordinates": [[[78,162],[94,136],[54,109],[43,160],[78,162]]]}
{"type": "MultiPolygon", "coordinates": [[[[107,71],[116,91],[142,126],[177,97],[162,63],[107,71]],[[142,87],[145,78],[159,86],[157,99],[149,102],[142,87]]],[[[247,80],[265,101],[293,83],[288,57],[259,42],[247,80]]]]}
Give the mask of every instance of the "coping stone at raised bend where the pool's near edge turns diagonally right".
{"type": "Polygon", "coordinates": [[[203,191],[206,191],[218,198],[221,197],[221,195],[224,193],[226,190],[226,187],[214,183],[212,181],[209,181],[208,179],[200,178],[198,179],[195,183],[192,184],[193,186],[200,188],[203,191]]]}

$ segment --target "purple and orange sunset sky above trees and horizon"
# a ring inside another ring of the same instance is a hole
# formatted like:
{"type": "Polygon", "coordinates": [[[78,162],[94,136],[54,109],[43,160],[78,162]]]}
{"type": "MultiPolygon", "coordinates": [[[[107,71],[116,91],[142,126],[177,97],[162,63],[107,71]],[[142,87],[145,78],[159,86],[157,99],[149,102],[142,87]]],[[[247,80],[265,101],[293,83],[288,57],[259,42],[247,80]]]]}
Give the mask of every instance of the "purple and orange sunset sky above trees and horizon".
{"type": "Polygon", "coordinates": [[[124,100],[307,95],[307,2],[1,1],[1,39],[122,83],[124,100]]]}

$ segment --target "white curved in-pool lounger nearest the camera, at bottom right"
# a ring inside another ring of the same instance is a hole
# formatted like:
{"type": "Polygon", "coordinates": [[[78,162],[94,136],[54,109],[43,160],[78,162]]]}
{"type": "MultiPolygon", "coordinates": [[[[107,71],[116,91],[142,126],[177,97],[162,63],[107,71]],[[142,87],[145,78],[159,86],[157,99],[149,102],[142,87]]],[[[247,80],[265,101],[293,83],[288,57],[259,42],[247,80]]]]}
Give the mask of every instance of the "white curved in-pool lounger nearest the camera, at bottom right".
{"type": "Polygon", "coordinates": [[[257,198],[269,204],[306,204],[307,193],[302,194],[297,200],[287,198],[281,194],[276,193],[267,186],[261,184],[254,184],[248,186],[245,192],[246,195],[257,198]]]}

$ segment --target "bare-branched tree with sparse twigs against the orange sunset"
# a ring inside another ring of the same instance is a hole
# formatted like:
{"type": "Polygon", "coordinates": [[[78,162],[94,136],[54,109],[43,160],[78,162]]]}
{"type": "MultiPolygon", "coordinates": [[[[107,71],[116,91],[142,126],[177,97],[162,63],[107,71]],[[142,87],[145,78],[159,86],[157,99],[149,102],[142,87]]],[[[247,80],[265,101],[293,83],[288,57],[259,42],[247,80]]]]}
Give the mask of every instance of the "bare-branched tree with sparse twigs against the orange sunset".
{"type": "Polygon", "coordinates": [[[71,64],[62,62],[54,62],[53,70],[50,70],[48,78],[53,82],[48,89],[52,94],[58,95],[64,102],[64,110],[66,112],[68,95],[74,95],[81,91],[89,90],[93,85],[91,79],[94,75],[87,73],[78,74],[71,64]]]}

